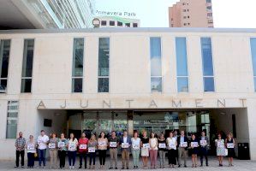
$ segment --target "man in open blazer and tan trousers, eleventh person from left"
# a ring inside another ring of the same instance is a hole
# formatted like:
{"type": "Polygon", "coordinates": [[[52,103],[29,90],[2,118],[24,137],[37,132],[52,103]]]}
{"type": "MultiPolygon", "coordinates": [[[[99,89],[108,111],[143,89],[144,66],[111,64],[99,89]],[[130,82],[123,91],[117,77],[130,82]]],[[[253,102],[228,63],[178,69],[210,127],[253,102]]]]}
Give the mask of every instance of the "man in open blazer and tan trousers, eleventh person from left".
{"type": "Polygon", "coordinates": [[[128,132],[123,131],[122,139],[120,139],[121,151],[122,151],[122,169],[129,169],[129,156],[130,146],[132,144],[131,138],[128,137],[128,132]]]}

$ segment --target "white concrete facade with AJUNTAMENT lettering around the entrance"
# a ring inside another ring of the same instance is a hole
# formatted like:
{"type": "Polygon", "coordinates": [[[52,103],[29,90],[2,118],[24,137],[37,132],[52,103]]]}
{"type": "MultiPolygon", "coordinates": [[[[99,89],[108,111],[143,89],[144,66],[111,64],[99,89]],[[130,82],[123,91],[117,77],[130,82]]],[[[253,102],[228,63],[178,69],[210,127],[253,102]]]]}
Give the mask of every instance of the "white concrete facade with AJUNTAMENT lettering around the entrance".
{"type": "MultiPolygon", "coordinates": [[[[17,130],[26,138],[29,134],[37,136],[41,129],[48,133],[63,131],[63,109],[215,109],[214,115],[226,114],[227,122],[218,121],[218,127],[230,131],[229,115],[235,114],[237,139],[255,144],[256,94],[250,49],[253,37],[256,30],[246,29],[1,31],[0,40],[11,39],[11,48],[7,92],[0,94],[0,159],[14,158],[15,154],[15,139],[6,139],[9,100],[19,101],[17,130]],[[110,37],[108,93],[98,93],[98,38],[102,37],[110,37]],[[163,91],[159,93],[151,92],[150,37],[162,41],[163,91]],[[188,47],[189,91],[182,93],[177,92],[176,83],[176,37],[186,37],[188,47]],[[215,92],[204,92],[201,37],[211,37],[215,92]],[[35,39],[31,93],[21,93],[25,38],[35,39]],[[82,93],[71,93],[74,38],[85,38],[82,93]],[[152,100],[157,105],[150,105],[152,100]],[[180,101],[182,105],[176,105],[180,101]],[[40,102],[44,106],[39,107],[40,102]],[[45,117],[52,119],[51,128],[43,126],[45,117]]],[[[256,160],[254,145],[250,145],[250,152],[251,159],[256,160]]]]}

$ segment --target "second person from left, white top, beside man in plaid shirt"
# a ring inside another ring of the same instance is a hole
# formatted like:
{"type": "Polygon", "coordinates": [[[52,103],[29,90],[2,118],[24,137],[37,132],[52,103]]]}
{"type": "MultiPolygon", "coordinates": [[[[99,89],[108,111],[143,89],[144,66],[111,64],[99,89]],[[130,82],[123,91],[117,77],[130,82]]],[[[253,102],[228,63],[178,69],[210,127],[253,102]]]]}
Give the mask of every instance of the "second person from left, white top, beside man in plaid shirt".
{"type": "Polygon", "coordinates": [[[27,167],[33,168],[34,166],[34,157],[37,147],[37,143],[33,139],[33,135],[29,135],[29,140],[27,141],[26,148],[27,148],[27,167]]]}

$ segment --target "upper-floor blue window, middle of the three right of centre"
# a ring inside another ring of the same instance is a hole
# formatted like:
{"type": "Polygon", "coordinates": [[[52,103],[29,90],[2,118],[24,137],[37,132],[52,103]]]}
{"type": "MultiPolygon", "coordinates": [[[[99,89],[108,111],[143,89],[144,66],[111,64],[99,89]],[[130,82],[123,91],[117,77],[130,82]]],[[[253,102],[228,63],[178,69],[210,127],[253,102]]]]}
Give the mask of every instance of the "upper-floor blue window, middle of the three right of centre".
{"type": "Polygon", "coordinates": [[[186,38],[176,38],[176,70],[178,92],[188,92],[188,59],[186,38]]]}

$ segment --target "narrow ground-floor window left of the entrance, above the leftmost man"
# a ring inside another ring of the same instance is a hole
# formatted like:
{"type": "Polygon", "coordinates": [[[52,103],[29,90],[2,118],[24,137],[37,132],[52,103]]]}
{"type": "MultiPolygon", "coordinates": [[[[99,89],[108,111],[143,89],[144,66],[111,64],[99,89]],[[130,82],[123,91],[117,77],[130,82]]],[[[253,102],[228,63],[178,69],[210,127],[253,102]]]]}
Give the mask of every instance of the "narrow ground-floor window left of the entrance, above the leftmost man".
{"type": "Polygon", "coordinates": [[[17,136],[17,121],[19,101],[8,101],[6,139],[15,139],[17,136]]]}

